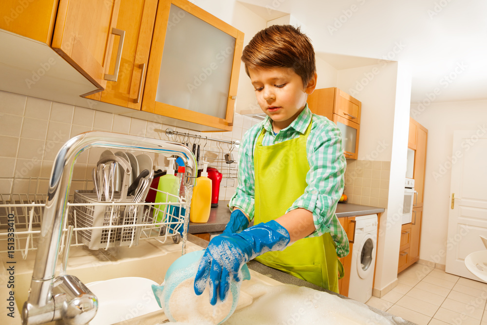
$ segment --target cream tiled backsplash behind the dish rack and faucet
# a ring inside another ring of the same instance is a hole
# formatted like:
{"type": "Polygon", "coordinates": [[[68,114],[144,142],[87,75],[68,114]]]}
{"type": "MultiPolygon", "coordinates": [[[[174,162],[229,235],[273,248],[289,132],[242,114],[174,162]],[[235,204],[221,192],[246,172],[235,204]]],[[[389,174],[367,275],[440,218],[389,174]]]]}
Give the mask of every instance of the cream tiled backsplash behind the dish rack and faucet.
{"type": "MultiPolygon", "coordinates": [[[[258,121],[253,118],[236,114],[232,132],[200,133],[0,91],[0,193],[46,194],[48,178],[59,148],[69,138],[86,131],[109,131],[176,141],[174,137],[168,138],[165,133],[166,129],[172,128],[179,132],[201,134],[203,137],[240,141],[242,135],[255,123],[258,121]]],[[[190,138],[189,142],[193,141],[190,138]]],[[[203,138],[201,146],[204,144],[203,138]]],[[[103,150],[94,148],[78,156],[73,173],[73,190],[93,189],[91,172],[103,150]]],[[[205,150],[212,166],[212,161],[224,160],[230,147],[208,141],[205,150]]],[[[237,159],[238,149],[233,149],[232,153],[237,159]]],[[[155,165],[167,165],[163,157],[153,158],[155,165]]],[[[221,172],[225,174],[225,171],[221,172]]],[[[236,179],[223,182],[222,185],[226,187],[220,189],[220,199],[229,199],[235,191],[236,179]]]]}

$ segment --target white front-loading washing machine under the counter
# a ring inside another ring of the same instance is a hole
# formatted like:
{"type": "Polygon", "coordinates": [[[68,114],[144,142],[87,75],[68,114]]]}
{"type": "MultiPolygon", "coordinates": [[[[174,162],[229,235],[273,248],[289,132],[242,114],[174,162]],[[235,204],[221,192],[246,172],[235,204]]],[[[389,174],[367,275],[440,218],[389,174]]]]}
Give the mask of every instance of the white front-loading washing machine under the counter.
{"type": "Polygon", "coordinates": [[[348,297],[365,303],[372,297],[377,250],[377,214],[358,216],[355,222],[348,297]]]}

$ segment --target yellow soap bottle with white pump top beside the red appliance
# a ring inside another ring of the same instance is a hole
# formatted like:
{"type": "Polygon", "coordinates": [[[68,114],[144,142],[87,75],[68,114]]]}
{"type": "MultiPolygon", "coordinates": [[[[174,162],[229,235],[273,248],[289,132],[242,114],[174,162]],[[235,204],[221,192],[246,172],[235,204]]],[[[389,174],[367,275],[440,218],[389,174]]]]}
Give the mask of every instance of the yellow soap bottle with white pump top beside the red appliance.
{"type": "Polygon", "coordinates": [[[201,176],[196,178],[196,185],[193,189],[191,207],[189,210],[189,221],[205,223],[210,217],[211,209],[211,179],[209,179],[206,167],[208,163],[203,162],[201,176]]]}

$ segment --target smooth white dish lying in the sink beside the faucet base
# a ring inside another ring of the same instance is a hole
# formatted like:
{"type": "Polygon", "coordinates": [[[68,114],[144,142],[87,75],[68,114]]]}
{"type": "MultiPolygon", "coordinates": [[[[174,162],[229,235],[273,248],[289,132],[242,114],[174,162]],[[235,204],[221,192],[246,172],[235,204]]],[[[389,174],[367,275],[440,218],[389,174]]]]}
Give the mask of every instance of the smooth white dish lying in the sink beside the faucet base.
{"type": "Polygon", "coordinates": [[[125,277],[97,281],[86,286],[98,298],[98,311],[90,325],[109,325],[161,310],[146,278],[125,277]]]}

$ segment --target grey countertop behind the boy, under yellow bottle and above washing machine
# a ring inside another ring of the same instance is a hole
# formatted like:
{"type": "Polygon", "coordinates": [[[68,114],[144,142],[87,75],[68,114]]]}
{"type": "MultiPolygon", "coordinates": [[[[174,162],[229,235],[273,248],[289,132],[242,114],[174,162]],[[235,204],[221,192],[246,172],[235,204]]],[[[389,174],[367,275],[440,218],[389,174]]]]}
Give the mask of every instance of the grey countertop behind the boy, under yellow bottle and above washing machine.
{"type": "MultiPolygon", "coordinates": [[[[229,201],[220,201],[217,208],[211,208],[210,217],[206,223],[189,222],[189,233],[222,232],[230,220],[229,201]]],[[[352,203],[338,203],[336,214],[338,218],[375,214],[384,212],[383,208],[368,207],[352,203]]]]}

